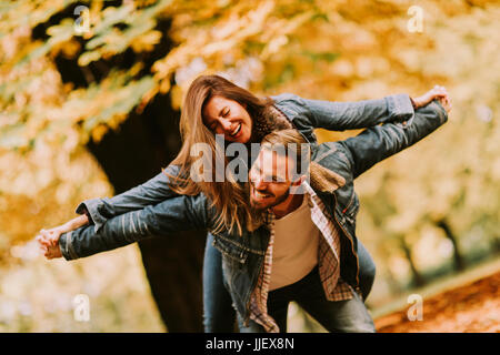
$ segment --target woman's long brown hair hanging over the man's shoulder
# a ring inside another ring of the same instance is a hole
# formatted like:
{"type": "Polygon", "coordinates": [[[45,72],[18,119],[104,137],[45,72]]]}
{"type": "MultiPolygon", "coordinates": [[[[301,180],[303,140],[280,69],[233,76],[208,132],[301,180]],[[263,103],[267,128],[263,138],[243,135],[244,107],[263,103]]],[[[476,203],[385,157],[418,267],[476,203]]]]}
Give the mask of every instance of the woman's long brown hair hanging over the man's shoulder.
{"type": "Polygon", "coordinates": [[[211,201],[211,206],[214,206],[218,211],[214,233],[222,230],[233,231],[236,227],[234,231],[241,234],[244,227],[243,221],[252,219],[248,201],[248,187],[231,179],[231,176],[224,176],[223,182],[216,182],[216,179],[194,182],[190,176],[191,166],[198,160],[197,156],[191,155],[191,146],[197,143],[208,144],[212,152],[212,166],[219,166],[216,161],[223,162],[222,166],[224,166],[226,172],[228,159],[223,146],[217,144],[213,132],[203,124],[202,118],[204,104],[214,95],[237,101],[243,105],[252,119],[252,130],[256,126],[257,118],[261,116],[266,109],[273,103],[270,98],[258,98],[222,77],[201,75],[197,78],[191,83],[182,106],[179,123],[182,148],[171,162],[172,165],[179,168],[179,173],[172,175],[164,170],[163,172],[169,176],[170,187],[174,192],[184,195],[196,195],[200,192],[206,194],[211,201]]]}

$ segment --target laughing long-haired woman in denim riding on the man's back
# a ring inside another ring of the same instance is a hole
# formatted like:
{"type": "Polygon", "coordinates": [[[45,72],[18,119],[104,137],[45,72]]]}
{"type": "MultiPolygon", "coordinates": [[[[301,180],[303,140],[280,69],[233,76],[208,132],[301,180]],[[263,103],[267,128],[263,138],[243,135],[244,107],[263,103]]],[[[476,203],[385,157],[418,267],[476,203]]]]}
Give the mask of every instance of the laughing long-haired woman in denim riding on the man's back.
{"type": "MultiPolygon", "coordinates": [[[[191,155],[193,144],[208,144],[216,159],[224,160],[227,164],[228,158],[222,153],[223,148],[217,143],[214,134],[222,134],[227,142],[250,144],[260,142],[273,130],[294,128],[308,142],[316,143],[314,128],[361,129],[387,121],[407,121],[412,118],[414,109],[434,98],[447,98],[444,88],[436,87],[413,100],[403,94],[356,103],[306,100],[292,94],[260,99],[221,77],[199,77],[189,88],[182,108],[181,151],[163,171],[164,174],[160,173],[144,184],[112,199],[84,201],[77,207],[77,213],[84,215],[52,230],[42,230],[41,235],[57,241],[61,233],[89,222],[98,230],[107,219],[114,215],[156,204],[176,194],[192,195],[200,192],[220,211],[219,227],[241,231],[239,221],[250,216],[246,192],[232,180],[194,182],[188,179],[197,159],[191,155]]],[[[232,332],[234,321],[228,316],[233,314],[231,298],[222,283],[221,254],[212,246],[212,242],[213,236],[209,234],[203,265],[206,332],[232,332]]],[[[366,300],[374,280],[374,264],[361,243],[358,245],[360,286],[366,300]]]]}

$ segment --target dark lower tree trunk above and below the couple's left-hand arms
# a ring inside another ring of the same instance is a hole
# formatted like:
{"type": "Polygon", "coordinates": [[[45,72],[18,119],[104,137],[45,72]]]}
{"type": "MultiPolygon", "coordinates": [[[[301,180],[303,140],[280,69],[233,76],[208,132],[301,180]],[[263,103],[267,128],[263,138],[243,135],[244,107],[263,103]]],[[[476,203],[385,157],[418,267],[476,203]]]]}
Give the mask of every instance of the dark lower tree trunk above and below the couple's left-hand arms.
{"type": "MultiPolygon", "coordinates": [[[[180,149],[168,95],[158,95],[142,114],[131,113],[117,132],[88,149],[114,187],[127,191],[160,172],[180,149]]],[[[151,293],[169,332],[202,332],[201,277],[206,232],[177,233],[139,243],[151,293]]]]}

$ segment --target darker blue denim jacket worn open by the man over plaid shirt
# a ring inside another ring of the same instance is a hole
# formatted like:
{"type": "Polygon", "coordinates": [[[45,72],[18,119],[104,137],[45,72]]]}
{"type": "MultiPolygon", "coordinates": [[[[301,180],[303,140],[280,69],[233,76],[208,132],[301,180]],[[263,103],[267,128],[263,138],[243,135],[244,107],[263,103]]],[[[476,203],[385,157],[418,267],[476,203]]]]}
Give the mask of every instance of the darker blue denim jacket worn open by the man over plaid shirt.
{"type": "MultiPolygon", "coordinates": [[[[318,195],[341,233],[341,277],[353,288],[359,284],[359,261],[356,253],[356,215],[359,200],[353,180],[381,160],[414,144],[448,120],[438,102],[416,111],[409,123],[386,123],[364,130],[354,138],[314,145],[312,159],[343,178],[344,183],[318,195]]],[[[67,260],[113,250],[152,235],[171,235],[179,231],[213,229],[217,211],[203,194],[179,195],[157,205],[108,220],[98,232],[82,227],[62,234],[59,241],[67,260]]],[[[234,307],[243,320],[249,318],[253,292],[269,243],[269,230],[262,225],[243,235],[224,231],[214,234],[214,246],[222,253],[222,270],[234,307]]]]}

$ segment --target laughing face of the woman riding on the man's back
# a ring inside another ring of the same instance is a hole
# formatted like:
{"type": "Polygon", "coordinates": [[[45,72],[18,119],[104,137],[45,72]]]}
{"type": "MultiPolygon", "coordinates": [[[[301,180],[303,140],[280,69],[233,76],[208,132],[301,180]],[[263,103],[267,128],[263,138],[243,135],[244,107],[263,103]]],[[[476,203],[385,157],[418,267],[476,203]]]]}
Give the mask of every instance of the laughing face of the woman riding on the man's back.
{"type": "Polygon", "coordinates": [[[213,134],[230,142],[247,143],[252,135],[252,119],[237,101],[212,97],[203,108],[203,123],[213,134]]]}

